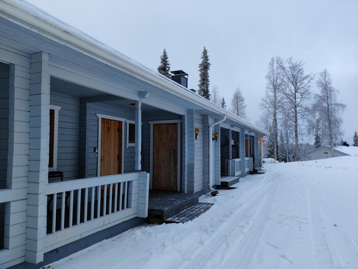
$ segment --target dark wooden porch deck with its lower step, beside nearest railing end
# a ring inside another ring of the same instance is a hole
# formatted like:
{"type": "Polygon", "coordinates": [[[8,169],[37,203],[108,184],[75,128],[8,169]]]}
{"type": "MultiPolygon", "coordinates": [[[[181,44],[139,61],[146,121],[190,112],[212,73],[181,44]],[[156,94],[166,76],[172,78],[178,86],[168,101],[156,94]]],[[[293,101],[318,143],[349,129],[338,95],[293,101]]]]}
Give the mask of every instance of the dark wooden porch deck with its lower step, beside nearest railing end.
{"type": "Polygon", "coordinates": [[[199,203],[199,196],[180,192],[149,191],[149,223],[179,223],[193,220],[213,204],[199,203]]]}

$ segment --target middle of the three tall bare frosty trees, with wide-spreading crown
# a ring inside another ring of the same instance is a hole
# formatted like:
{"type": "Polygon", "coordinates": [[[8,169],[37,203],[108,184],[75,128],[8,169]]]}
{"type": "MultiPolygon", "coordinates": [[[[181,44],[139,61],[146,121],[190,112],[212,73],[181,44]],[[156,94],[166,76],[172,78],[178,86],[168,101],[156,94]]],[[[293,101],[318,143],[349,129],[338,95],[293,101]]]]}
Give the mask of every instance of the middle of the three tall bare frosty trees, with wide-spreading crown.
{"type": "Polygon", "coordinates": [[[280,93],[283,97],[281,111],[294,124],[295,160],[299,161],[299,132],[301,124],[310,115],[311,84],[314,75],[312,73],[306,74],[304,62],[302,60],[294,61],[292,57],[286,61],[280,61],[279,65],[283,75],[280,87],[280,93]]]}

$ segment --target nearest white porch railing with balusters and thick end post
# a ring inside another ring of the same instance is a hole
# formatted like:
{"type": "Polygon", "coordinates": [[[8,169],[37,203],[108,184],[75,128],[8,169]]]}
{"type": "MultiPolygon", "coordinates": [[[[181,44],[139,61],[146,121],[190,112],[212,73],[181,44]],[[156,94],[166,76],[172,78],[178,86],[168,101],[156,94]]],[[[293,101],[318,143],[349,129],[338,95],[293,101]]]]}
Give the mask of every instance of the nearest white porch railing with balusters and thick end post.
{"type": "MultiPolygon", "coordinates": [[[[148,189],[147,173],[47,184],[45,194],[49,201],[52,200],[52,216],[47,216],[51,217],[47,221],[51,229],[47,229],[49,233],[44,239],[44,251],[48,252],[136,216],[146,217],[148,189]],[[56,214],[58,211],[61,214],[56,214]]],[[[50,212],[48,209],[47,213],[50,212]]]]}

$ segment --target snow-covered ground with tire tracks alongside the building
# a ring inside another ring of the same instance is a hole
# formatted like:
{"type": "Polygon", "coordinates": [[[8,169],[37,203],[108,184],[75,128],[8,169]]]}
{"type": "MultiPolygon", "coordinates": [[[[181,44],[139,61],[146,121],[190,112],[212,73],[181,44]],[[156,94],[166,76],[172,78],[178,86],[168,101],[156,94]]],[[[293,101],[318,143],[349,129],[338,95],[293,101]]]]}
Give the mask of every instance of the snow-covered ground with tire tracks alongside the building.
{"type": "Polygon", "coordinates": [[[358,268],[355,156],[266,164],[184,224],[144,225],[53,268],[358,268]]]}

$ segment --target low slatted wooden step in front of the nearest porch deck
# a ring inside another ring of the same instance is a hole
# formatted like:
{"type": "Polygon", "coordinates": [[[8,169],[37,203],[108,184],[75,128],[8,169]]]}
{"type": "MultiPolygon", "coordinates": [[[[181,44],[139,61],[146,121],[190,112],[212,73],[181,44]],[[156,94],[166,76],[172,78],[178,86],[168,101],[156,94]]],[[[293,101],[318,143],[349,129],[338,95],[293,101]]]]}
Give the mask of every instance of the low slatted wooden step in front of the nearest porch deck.
{"type": "Polygon", "coordinates": [[[175,215],[168,217],[164,220],[165,223],[180,223],[194,220],[194,218],[200,216],[209,208],[211,208],[212,203],[196,203],[193,206],[190,206],[175,215]]]}

